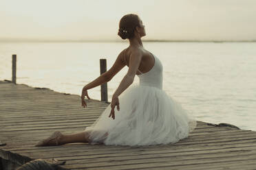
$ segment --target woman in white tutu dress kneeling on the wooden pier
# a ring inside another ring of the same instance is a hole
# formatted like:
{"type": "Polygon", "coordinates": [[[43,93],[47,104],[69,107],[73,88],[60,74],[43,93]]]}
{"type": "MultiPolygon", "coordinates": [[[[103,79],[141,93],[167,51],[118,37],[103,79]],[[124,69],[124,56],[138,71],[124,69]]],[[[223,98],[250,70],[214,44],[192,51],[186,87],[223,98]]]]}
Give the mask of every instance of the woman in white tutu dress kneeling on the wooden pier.
{"type": "Polygon", "coordinates": [[[191,115],[189,117],[181,105],[162,90],[162,64],[142,45],[141,37],[146,33],[140,17],[136,14],[123,16],[118,35],[122,39],[129,39],[129,47],[120,52],[109,71],[84,86],[81,95],[82,106],[85,108],[85,96],[90,99],[87,90],[109,82],[127,65],[127,74],[116,89],[111,104],[85,131],[76,134],[56,131],[36,146],[79,142],[158,145],[176,143],[193,131],[195,119],[191,115]],[[135,75],[139,77],[140,84],[129,87],[135,75]]]}

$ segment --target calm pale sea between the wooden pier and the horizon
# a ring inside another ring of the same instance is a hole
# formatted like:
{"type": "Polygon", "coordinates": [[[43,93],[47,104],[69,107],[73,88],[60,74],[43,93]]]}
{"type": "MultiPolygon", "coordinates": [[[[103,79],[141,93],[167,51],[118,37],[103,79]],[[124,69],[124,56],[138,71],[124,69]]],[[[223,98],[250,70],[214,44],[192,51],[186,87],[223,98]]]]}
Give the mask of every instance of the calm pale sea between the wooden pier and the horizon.
{"type": "MultiPolygon", "coordinates": [[[[255,42],[143,45],[162,62],[163,90],[198,121],[256,130],[255,42]]],[[[107,59],[109,69],[127,46],[127,42],[1,42],[0,80],[11,80],[12,54],[17,54],[17,84],[81,95],[83,86],[100,75],[100,58],[107,59]]],[[[109,101],[127,70],[108,82],[109,101]]],[[[100,86],[88,93],[100,99],[100,86]]]]}

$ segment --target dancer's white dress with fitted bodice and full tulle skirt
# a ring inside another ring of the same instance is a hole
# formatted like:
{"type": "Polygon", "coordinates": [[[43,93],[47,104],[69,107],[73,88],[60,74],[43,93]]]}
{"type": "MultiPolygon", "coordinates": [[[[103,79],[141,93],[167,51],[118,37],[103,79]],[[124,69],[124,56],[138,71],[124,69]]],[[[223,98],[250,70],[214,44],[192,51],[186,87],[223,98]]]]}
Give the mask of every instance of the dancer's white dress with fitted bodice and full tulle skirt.
{"type": "Polygon", "coordinates": [[[194,117],[162,90],[162,64],[154,58],[152,69],[138,75],[140,84],[129,86],[118,97],[120,110],[115,107],[115,119],[109,117],[109,104],[85,128],[90,132],[91,144],[99,141],[105,145],[129,146],[176,143],[195,129],[194,117]]]}

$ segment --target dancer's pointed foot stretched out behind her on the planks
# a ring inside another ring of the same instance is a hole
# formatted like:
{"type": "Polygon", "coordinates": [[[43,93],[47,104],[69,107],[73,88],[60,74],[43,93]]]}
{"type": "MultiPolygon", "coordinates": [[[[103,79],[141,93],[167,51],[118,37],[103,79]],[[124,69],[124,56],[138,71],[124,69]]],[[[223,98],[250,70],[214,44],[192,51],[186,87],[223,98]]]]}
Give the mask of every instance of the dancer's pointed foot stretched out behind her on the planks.
{"type": "Polygon", "coordinates": [[[55,131],[50,137],[43,139],[42,141],[39,141],[35,147],[42,147],[42,146],[56,146],[60,145],[60,138],[63,136],[61,132],[55,131]]]}

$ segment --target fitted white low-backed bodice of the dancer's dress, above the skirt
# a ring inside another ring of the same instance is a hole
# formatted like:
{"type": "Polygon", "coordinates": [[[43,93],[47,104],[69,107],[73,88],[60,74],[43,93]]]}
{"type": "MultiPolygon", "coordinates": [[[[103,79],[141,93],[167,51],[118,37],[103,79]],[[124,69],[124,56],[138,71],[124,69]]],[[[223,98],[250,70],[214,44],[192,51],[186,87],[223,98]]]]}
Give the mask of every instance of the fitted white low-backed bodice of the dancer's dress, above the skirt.
{"type": "Polygon", "coordinates": [[[156,88],[162,89],[162,63],[160,60],[153,55],[155,58],[155,64],[147,73],[141,73],[138,75],[140,85],[142,86],[155,86],[156,88]]]}

